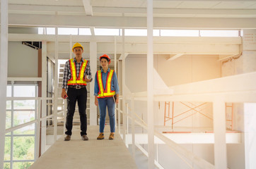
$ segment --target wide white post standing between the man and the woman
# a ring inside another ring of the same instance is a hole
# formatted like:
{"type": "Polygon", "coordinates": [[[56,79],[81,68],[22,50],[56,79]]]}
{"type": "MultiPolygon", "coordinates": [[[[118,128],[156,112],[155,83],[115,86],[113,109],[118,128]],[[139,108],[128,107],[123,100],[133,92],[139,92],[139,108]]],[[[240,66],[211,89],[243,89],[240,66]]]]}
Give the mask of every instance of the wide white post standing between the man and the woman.
{"type": "Polygon", "coordinates": [[[90,42],[90,66],[93,81],[90,82],[90,125],[97,125],[97,106],[94,104],[94,82],[97,72],[97,43],[90,42]]]}

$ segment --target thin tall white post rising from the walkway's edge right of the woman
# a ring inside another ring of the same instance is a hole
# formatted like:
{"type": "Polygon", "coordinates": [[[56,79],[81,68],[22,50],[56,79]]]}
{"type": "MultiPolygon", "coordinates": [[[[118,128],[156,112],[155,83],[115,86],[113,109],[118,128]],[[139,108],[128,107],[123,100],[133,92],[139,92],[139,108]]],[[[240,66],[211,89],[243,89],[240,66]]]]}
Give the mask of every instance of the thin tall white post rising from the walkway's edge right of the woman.
{"type": "Polygon", "coordinates": [[[123,127],[123,139],[126,144],[126,118],[125,118],[125,56],[124,56],[124,28],[122,28],[122,127],[123,127]]]}

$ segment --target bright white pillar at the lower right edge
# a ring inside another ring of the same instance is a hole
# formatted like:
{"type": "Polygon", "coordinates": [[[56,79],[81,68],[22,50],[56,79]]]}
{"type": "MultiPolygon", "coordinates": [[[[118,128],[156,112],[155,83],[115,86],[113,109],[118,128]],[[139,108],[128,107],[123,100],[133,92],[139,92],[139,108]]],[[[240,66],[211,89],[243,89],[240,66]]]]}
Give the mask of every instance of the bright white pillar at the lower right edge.
{"type": "Polygon", "coordinates": [[[256,104],[245,103],[245,169],[256,168],[256,104]]]}

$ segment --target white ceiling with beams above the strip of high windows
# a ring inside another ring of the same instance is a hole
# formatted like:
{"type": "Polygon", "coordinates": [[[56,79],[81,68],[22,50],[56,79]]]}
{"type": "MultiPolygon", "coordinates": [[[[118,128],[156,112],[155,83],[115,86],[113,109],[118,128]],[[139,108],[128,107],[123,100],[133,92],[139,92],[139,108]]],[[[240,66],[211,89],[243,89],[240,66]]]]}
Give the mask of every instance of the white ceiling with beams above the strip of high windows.
{"type": "MultiPolygon", "coordinates": [[[[9,25],[146,27],[146,0],[8,0],[9,25]]],[[[153,27],[256,28],[256,0],[154,0],[153,27]]]]}

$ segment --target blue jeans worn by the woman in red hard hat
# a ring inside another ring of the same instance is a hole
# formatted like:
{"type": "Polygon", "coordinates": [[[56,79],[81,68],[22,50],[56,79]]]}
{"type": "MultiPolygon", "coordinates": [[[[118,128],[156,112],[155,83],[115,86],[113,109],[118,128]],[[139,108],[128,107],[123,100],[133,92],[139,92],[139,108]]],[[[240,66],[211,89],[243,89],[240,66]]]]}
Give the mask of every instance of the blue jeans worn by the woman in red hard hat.
{"type": "Polygon", "coordinates": [[[99,98],[100,108],[100,132],[104,132],[106,120],[106,108],[110,117],[110,132],[115,132],[115,101],[113,97],[99,98]]]}

